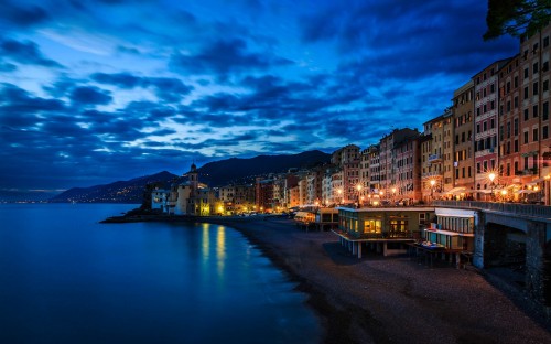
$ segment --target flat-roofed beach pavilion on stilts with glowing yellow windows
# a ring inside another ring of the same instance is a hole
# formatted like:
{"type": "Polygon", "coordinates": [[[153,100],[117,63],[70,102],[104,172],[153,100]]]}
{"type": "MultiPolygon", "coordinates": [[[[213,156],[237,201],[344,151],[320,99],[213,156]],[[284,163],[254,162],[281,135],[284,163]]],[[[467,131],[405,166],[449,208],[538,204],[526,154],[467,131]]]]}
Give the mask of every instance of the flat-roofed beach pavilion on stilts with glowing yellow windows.
{"type": "Polygon", "coordinates": [[[337,207],[338,228],[333,229],[343,246],[361,258],[363,247],[383,256],[408,251],[408,244],[422,241],[434,219],[434,207],[337,207]]]}

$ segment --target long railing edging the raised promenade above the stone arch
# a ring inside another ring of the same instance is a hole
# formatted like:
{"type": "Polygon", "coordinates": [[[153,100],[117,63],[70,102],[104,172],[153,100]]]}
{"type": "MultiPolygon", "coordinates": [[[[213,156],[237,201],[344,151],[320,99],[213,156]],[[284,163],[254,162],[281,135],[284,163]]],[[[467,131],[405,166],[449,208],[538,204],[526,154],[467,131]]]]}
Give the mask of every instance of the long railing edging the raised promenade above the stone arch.
{"type": "Polygon", "coordinates": [[[433,201],[434,206],[482,209],[515,216],[529,216],[551,219],[551,206],[537,204],[479,202],[479,201],[433,201]]]}

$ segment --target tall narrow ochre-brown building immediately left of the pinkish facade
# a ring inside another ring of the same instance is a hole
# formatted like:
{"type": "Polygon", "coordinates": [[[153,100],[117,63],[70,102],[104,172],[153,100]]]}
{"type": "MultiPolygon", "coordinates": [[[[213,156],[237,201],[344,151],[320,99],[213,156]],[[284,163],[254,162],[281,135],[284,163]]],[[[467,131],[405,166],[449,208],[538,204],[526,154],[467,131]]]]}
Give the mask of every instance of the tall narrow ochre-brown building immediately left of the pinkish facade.
{"type": "Polygon", "coordinates": [[[469,80],[457,88],[452,99],[453,116],[453,187],[446,195],[464,200],[474,190],[473,109],[474,83],[469,80]]]}

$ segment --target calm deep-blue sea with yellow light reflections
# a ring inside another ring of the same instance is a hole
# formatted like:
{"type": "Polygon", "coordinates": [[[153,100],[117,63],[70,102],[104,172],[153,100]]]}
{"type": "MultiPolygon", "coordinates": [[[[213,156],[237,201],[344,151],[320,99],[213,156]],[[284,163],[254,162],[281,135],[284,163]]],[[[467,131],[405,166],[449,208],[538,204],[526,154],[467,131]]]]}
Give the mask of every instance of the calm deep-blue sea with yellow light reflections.
{"type": "Polygon", "coordinates": [[[99,224],[136,205],[0,205],[0,343],[317,343],[305,295],[237,230],[99,224]]]}

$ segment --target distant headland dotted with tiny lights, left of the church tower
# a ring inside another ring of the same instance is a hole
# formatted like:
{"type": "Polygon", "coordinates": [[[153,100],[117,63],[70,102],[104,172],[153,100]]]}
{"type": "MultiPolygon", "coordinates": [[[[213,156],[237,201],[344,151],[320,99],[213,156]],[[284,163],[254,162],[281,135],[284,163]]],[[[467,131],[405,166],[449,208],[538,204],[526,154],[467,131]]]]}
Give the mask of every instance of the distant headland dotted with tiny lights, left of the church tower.
{"type": "Polygon", "coordinates": [[[175,174],[163,171],[152,175],[134,178],[129,181],[119,181],[106,185],[90,187],[73,187],[50,202],[76,202],[76,203],[142,203],[145,185],[161,183],[177,178],[175,174]]]}

